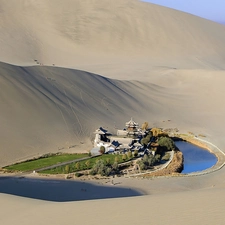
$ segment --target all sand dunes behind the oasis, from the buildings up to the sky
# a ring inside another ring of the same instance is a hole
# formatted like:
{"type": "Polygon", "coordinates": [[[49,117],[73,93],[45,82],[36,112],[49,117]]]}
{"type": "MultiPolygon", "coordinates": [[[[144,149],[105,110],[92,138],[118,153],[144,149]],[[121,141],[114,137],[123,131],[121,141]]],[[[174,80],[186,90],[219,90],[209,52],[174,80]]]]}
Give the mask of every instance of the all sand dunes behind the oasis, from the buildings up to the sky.
{"type": "Polygon", "coordinates": [[[20,65],[0,64],[1,165],[88,151],[130,117],[220,132],[224,26],[135,0],[0,3],[0,60],[20,65]]]}

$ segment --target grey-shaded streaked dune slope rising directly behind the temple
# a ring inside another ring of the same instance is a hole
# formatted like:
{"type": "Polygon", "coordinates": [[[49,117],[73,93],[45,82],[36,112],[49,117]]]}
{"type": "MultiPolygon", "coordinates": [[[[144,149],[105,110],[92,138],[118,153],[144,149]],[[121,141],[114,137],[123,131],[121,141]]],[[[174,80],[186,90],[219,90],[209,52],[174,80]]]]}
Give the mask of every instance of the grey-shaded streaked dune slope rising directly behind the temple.
{"type": "Polygon", "coordinates": [[[87,152],[95,129],[115,132],[130,117],[142,118],[142,98],[160,92],[156,85],[83,71],[0,63],[0,164],[59,150],[87,152]]]}

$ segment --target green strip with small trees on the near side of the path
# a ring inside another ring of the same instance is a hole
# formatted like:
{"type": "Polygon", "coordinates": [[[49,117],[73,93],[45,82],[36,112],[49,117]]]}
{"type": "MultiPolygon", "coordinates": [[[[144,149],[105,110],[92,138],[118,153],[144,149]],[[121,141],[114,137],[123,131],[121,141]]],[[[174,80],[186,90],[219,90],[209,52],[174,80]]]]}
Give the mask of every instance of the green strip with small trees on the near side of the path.
{"type": "MultiPolygon", "coordinates": [[[[79,172],[79,171],[82,171],[82,170],[90,170],[90,169],[93,169],[94,165],[99,160],[102,160],[104,162],[105,166],[111,167],[112,165],[114,165],[114,163],[119,164],[119,163],[122,163],[124,161],[127,161],[128,158],[126,158],[126,160],[123,160],[123,155],[103,154],[103,155],[98,156],[98,157],[94,157],[94,158],[79,161],[79,167],[78,167],[77,163],[71,163],[71,164],[67,165],[68,167],[59,166],[59,167],[56,167],[54,169],[42,171],[41,173],[45,173],[45,174],[67,174],[67,173],[79,172]]],[[[101,166],[102,166],[102,164],[101,164],[101,166]]],[[[100,167],[100,165],[98,165],[98,167],[100,167]]],[[[104,171],[105,174],[107,174],[107,171],[105,171],[105,168],[102,169],[102,170],[104,171]]],[[[97,170],[97,171],[99,171],[99,170],[97,170]]],[[[97,174],[98,174],[98,172],[97,172],[97,174]]]]}

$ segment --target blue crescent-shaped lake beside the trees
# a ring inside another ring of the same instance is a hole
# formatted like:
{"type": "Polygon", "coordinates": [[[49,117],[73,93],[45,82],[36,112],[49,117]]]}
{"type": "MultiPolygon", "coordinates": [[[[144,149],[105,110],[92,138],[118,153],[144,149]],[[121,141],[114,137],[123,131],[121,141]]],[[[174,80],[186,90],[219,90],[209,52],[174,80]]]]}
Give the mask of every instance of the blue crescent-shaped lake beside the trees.
{"type": "Polygon", "coordinates": [[[203,171],[217,163],[216,156],[203,148],[184,141],[176,141],[175,144],[184,156],[182,173],[203,171]]]}

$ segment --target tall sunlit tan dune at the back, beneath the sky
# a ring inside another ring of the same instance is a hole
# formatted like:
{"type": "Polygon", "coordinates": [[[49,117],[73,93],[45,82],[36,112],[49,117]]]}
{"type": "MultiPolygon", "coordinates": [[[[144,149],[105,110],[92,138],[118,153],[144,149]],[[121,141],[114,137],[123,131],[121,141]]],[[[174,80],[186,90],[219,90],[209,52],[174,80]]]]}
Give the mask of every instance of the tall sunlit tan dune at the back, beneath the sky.
{"type": "Polygon", "coordinates": [[[137,0],[0,4],[3,62],[33,65],[38,60],[96,73],[102,65],[123,68],[130,62],[142,63],[138,69],[143,62],[155,70],[224,68],[225,27],[176,10],[137,0]]]}

